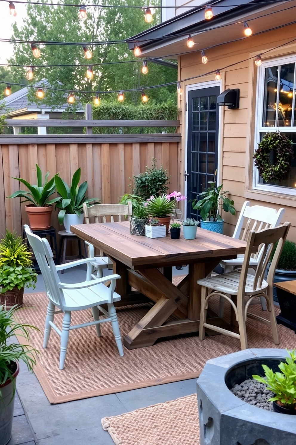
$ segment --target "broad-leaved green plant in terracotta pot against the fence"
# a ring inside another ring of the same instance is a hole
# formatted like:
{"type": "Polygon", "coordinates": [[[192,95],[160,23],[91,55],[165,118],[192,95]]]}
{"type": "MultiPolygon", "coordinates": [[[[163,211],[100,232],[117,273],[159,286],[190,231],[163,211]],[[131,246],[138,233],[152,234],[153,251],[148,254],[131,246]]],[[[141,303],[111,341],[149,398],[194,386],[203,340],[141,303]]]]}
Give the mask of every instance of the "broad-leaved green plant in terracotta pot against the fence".
{"type": "Polygon", "coordinates": [[[12,193],[8,198],[24,198],[21,202],[30,202],[25,206],[29,218],[29,226],[32,230],[46,230],[51,227],[52,204],[59,198],[51,198],[55,193],[55,178],[48,181],[49,171],[45,175],[44,182],[40,167],[36,164],[37,185],[31,185],[22,178],[13,178],[22,182],[28,190],[18,190],[12,193]]]}

